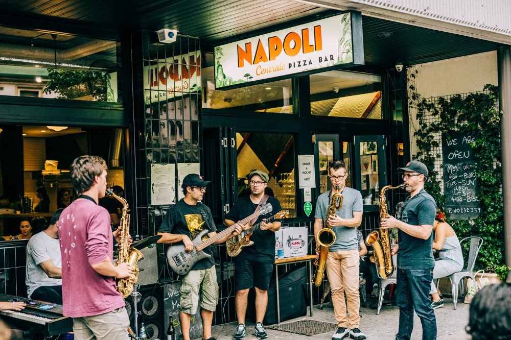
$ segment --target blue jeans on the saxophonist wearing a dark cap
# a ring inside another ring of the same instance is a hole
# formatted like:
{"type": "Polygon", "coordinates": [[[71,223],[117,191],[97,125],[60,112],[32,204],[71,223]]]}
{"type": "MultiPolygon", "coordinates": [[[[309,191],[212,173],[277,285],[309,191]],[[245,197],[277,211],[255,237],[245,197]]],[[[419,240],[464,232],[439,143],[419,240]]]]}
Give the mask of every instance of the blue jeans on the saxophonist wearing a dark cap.
{"type": "Polygon", "coordinates": [[[421,318],[423,340],[436,339],[436,318],[429,289],[433,268],[424,270],[398,269],[396,303],[399,307],[397,340],[410,340],[413,330],[413,310],[421,318]]]}

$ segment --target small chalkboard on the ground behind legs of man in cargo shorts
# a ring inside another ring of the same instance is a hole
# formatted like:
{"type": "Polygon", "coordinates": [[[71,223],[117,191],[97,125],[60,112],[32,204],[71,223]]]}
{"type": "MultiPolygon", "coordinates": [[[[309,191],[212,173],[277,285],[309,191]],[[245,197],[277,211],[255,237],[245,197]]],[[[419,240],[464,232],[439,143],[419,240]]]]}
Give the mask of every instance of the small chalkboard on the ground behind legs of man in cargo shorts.
{"type": "MultiPolygon", "coordinates": [[[[164,286],[164,306],[165,306],[165,332],[169,327],[169,315],[172,316],[172,324],[176,330],[176,339],[182,339],[181,323],[179,322],[179,282],[166,284],[164,286]]],[[[195,315],[192,315],[190,321],[190,338],[202,338],[202,319],[200,317],[200,306],[195,315]]]]}

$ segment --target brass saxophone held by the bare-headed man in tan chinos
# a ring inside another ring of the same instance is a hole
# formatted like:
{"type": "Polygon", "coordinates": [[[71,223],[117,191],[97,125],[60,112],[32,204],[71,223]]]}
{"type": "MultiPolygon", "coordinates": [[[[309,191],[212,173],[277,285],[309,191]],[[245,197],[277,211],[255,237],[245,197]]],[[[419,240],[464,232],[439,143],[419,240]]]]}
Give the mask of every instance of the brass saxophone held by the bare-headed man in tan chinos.
{"type": "MultiPolygon", "coordinates": [[[[338,190],[339,186],[336,186],[335,189],[338,190]]],[[[340,210],[341,207],[342,195],[340,193],[334,193],[332,196],[330,196],[327,215],[323,222],[323,228],[321,228],[317,235],[319,245],[317,245],[316,251],[319,253],[319,256],[316,261],[314,261],[316,272],[314,273],[314,276],[311,280],[311,282],[314,283],[316,287],[319,287],[323,281],[324,269],[327,265],[328,250],[330,249],[330,246],[332,246],[335,242],[335,233],[327,222],[328,216],[335,215],[335,211],[340,210]]]]}

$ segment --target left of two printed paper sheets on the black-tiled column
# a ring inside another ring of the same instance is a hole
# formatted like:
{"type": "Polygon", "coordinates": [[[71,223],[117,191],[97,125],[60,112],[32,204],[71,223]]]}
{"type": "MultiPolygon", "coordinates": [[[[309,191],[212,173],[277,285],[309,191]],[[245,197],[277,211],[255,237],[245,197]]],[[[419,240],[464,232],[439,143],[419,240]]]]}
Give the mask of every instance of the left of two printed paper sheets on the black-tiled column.
{"type": "Polygon", "coordinates": [[[175,164],[151,164],[151,205],[176,203],[175,164]]]}

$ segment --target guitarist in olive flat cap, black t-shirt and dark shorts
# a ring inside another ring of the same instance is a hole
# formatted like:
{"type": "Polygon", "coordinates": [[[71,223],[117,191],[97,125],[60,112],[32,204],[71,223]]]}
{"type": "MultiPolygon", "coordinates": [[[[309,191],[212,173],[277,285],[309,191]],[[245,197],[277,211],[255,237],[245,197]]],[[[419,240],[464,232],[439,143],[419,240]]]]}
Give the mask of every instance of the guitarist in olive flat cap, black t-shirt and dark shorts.
{"type": "MultiPolygon", "coordinates": [[[[262,171],[254,170],[248,175],[250,182],[250,195],[244,196],[235,203],[233,208],[225,217],[227,227],[235,225],[238,221],[254,213],[258,206],[263,203],[270,203],[273,211],[281,211],[281,204],[277,199],[267,196],[264,189],[268,185],[268,175],[262,171]]],[[[280,221],[265,223],[260,215],[250,225],[261,222],[261,228],[253,232],[250,240],[254,244],[246,247],[235,257],[235,284],[236,284],[236,314],[238,317],[238,329],[234,334],[235,340],[243,339],[246,336],[245,313],[247,310],[248,291],[255,286],[255,317],[256,323],[254,335],[258,339],[265,339],[268,334],[263,327],[264,314],[268,304],[268,285],[273,271],[275,261],[275,231],[281,228],[280,221]],[[253,275],[253,273],[257,275],[253,275]]],[[[246,230],[248,224],[243,226],[246,230]]]]}

